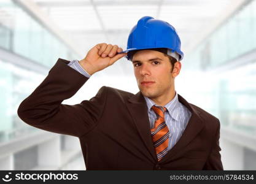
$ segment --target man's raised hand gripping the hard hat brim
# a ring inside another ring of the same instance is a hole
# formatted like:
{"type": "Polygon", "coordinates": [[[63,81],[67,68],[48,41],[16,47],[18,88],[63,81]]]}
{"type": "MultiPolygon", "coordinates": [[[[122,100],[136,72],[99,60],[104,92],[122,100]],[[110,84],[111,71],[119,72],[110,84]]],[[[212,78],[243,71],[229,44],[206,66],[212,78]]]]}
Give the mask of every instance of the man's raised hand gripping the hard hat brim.
{"type": "Polygon", "coordinates": [[[95,72],[101,71],[104,68],[111,66],[118,59],[127,55],[127,53],[117,54],[117,52],[122,52],[123,49],[117,45],[111,44],[97,44],[85,56],[84,59],[79,61],[79,64],[92,75],[95,72]]]}

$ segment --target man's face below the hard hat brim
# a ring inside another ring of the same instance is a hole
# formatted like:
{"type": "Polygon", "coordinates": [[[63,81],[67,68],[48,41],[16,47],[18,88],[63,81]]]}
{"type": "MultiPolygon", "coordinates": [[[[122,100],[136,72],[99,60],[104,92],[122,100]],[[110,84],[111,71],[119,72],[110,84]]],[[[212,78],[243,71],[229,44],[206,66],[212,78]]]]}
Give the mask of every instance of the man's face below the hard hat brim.
{"type": "Polygon", "coordinates": [[[139,90],[148,98],[158,98],[174,91],[169,58],[155,50],[139,50],[133,55],[134,75],[139,90]]]}

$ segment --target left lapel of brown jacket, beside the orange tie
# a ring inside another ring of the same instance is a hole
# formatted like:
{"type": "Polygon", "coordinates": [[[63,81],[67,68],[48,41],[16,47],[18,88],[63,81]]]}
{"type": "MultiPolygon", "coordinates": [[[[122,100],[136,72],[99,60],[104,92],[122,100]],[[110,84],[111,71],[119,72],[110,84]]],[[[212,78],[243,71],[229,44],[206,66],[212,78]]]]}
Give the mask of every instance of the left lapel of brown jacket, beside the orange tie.
{"type": "Polygon", "coordinates": [[[138,129],[139,135],[144,141],[144,144],[150,152],[150,155],[152,155],[152,158],[156,161],[157,155],[155,154],[155,148],[153,147],[152,137],[150,133],[147,104],[141,92],[135,94],[130,99],[128,99],[128,103],[126,105],[129,112],[131,113],[131,117],[133,117],[133,121],[136,125],[136,128],[138,129]]]}

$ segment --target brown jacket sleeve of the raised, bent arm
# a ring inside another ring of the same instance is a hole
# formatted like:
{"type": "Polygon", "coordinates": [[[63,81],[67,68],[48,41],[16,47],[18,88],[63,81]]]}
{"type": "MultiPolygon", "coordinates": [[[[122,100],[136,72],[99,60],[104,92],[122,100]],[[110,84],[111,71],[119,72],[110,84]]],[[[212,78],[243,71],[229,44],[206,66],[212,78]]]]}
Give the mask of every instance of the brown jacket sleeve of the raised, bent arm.
{"type": "Polygon", "coordinates": [[[18,107],[21,120],[45,131],[81,137],[95,128],[106,103],[107,88],[102,87],[90,101],[61,104],[71,98],[88,80],[58,59],[44,81],[18,107]]]}

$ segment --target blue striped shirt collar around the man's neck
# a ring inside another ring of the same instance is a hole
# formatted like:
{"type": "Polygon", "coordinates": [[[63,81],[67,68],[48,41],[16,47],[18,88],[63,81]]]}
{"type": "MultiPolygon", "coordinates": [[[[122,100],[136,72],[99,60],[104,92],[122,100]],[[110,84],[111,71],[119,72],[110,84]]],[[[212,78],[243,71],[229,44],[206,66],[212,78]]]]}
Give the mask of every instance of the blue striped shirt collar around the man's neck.
{"type": "MultiPolygon", "coordinates": [[[[156,105],[155,102],[152,101],[152,99],[147,98],[147,96],[144,96],[145,101],[147,102],[147,108],[148,111],[150,112],[150,109],[153,105],[156,105]]],[[[159,106],[159,105],[156,105],[159,106]]],[[[179,120],[179,115],[177,115],[177,113],[175,112],[175,109],[177,109],[179,107],[179,99],[178,99],[178,94],[175,91],[175,96],[174,98],[169,101],[166,105],[165,105],[166,109],[168,110],[169,115],[171,115],[172,118],[174,118],[174,120],[179,120]]]]}

